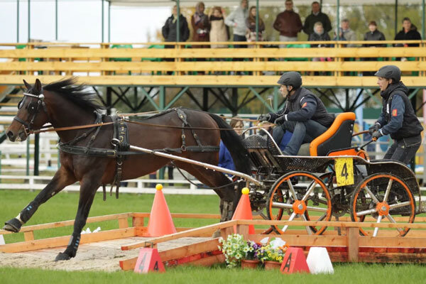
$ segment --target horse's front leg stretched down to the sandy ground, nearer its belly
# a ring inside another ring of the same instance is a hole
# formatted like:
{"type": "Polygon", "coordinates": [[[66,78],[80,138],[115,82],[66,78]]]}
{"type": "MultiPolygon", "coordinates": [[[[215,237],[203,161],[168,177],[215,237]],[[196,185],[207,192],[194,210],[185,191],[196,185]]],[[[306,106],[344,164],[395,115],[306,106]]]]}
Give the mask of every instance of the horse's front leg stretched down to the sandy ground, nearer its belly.
{"type": "Polygon", "coordinates": [[[67,261],[68,259],[73,258],[77,253],[82,229],[86,224],[90,207],[92,207],[94,200],[94,195],[100,185],[100,182],[94,180],[94,178],[86,178],[85,182],[80,181],[80,201],[78,202],[77,215],[75,216],[74,231],[72,232],[67,249],[65,249],[63,253],[59,253],[58,256],[56,256],[55,261],[67,261]]]}

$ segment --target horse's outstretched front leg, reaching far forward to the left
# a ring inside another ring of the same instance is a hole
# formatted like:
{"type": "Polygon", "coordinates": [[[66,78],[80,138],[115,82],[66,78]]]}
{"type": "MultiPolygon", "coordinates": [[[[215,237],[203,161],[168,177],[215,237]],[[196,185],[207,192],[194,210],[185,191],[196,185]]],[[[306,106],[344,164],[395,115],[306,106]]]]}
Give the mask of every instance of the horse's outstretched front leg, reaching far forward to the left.
{"type": "Polygon", "coordinates": [[[52,180],[46,185],[46,187],[40,191],[40,193],[30,202],[16,218],[10,219],[4,223],[3,229],[7,231],[13,231],[17,233],[21,230],[21,226],[28,222],[37,211],[40,204],[48,201],[50,197],[60,192],[67,185],[71,185],[76,182],[76,179],[72,173],[66,170],[63,166],[55,173],[52,180]]]}

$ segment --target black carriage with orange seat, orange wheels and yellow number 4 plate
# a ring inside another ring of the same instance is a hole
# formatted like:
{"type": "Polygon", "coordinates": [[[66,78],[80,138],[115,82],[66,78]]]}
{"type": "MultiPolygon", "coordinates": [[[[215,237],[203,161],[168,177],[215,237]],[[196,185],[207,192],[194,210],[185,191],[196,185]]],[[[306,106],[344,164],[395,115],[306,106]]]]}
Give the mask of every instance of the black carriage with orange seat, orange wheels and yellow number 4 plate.
{"type": "MultiPolygon", "coordinates": [[[[364,146],[351,146],[355,114],[338,114],[332,126],[297,156],[285,156],[264,131],[244,140],[261,185],[251,186],[253,214],[265,219],[305,221],[337,220],[350,214],[354,222],[366,217],[380,222],[412,223],[422,211],[420,187],[405,164],[393,160],[369,160],[364,146]],[[386,220],[385,220],[386,219],[386,220]]],[[[275,232],[284,234],[288,226],[275,232]]],[[[266,232],[270,232],[267,230],[266,232]]],[[[326,226],[307,226],[307,234],[322,234],[326,226]]],[[[405,236],[408,228],[397,228],[405,236]]],[[[368,231],[360,228],[361,234],[368,231]]],[[[378,228],[373,231],[378,234],[378,228]]]]}

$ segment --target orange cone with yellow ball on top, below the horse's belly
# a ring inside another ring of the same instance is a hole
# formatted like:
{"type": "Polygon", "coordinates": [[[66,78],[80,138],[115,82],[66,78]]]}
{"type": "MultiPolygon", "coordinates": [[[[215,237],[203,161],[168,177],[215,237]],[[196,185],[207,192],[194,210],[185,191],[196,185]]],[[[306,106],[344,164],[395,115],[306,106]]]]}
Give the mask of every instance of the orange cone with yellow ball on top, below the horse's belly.
{"type": "Polygon", "coordinates": [[[163,185],[155,185],[153,207],[148,222],[148,236],[164,236],[176,233],[172,215],[163,195],[163,185]]]}

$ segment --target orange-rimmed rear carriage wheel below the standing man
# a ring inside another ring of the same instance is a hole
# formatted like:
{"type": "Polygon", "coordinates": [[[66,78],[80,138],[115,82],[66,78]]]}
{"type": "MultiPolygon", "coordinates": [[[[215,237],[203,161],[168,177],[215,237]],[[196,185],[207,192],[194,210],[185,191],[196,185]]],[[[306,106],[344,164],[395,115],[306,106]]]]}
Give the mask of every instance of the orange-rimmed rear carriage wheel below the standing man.
{"type": "MultiPolygon", "coordinates": [[[[403,180],[388,173],[368,175],[356,186],[351,198],[351,219],[364,222],[371,215],[377,223],[413,223],[415,217],[415,200],[413,192],[403,180]]],[[[374,228],[373,236],[377,236],[379,228],[374,228]]],[[[384,236],[405,236],[410,228],[381,228],[384,236]]],[[[368,231],[359,228],[361,235],[368,231]]]]}

